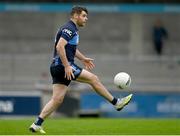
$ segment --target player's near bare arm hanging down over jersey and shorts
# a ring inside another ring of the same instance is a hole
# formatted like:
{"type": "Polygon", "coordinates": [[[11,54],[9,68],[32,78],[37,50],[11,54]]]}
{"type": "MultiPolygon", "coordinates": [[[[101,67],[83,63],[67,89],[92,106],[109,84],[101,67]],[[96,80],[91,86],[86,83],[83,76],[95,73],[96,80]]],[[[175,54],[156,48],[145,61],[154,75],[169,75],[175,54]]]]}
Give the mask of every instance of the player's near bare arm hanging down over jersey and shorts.
{"type": "Polygon", "coordinates": [[[70,66],[68,59],[66,57],[65,46],[67,45],[67,41],[64,38],[60,38],[58,44],[56,46],[57,52],[61,58],[62,64],[64,65],[65,69],[65,78],[71,80],[72,77],[74,78],[72,67],[70,66]]]}

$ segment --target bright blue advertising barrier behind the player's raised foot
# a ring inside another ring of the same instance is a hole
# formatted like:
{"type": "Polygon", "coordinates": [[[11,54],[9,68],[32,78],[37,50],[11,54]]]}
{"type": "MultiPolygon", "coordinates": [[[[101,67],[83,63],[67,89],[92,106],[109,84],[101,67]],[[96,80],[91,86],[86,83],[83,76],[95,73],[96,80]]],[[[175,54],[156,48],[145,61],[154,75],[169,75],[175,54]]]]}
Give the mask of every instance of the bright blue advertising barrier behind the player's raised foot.
{"type": "MultiPolygon", "coordinates": [[[[126,92],[113,92],[115,96],[126,96],[126,92]]],[[[103,117],[180,117],[180,93],[133,92],[132,101],[122,111],[95,93],[83,93],[81,111],[98,111],[103,117]]]]}

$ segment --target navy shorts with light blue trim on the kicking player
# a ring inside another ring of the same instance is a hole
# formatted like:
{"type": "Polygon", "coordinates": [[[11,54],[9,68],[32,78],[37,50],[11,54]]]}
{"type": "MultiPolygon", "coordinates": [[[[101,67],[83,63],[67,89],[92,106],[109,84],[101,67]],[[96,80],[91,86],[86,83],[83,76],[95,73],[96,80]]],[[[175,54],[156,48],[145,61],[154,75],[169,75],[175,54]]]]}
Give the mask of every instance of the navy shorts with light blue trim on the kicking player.
{"type": "MultiPolygon", "coordinates": [[[[77,66],[74,63],[71,63],[71,66],[73,68],[73,74],[74,74],[74,77],[75,77],[72,80],[76,80],[76,78],[81,74],[82,68],[80,68],[79,66],[77,66]]],[[[64,84],[66,86],[68,86],[70,84],[71,80],[67,80],[64,77],[65,76],[65,70],[64,70],[63,65],[61,65],[61,64],[59,64],[59,65],[51,64],[50,72],[51,72],[53,84],[64,84]]]]}

